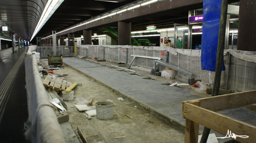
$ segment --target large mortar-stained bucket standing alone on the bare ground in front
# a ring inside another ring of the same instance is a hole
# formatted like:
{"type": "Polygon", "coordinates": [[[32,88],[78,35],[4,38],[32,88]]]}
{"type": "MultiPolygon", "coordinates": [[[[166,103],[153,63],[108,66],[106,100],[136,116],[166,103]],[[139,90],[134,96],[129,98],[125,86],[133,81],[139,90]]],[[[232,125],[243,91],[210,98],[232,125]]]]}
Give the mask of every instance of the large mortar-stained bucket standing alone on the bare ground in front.
{"type": "Polygon", "coordinates": [[[100,120],[110,120],[113,118],[114,103],[102,101],[95,103],[96,118],[100,120]]]}

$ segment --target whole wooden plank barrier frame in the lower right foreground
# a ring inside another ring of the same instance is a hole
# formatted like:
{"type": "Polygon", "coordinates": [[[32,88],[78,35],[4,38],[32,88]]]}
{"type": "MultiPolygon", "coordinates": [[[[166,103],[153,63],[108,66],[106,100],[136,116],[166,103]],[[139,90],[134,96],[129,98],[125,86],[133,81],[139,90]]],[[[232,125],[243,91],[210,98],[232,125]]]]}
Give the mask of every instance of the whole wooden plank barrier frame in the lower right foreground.
{"type": "Polygon", "coordinates": [[[197,143],[199,124],[224,135],[229,130],[239,136],[249,136],[237,137],[235,140],[239,142],[255,142],[256,126],[216,113],[255,103],[256,90],[182,102],[182,118],[186,118],[185,143],[197,143]]]}

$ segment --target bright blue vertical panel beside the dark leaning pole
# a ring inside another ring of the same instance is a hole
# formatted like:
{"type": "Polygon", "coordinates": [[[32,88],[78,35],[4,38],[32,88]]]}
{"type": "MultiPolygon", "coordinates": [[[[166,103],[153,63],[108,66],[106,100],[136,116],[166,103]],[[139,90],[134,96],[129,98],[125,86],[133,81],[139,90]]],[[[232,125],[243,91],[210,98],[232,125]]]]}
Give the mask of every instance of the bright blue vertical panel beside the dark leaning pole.
{"type": "MultiPolygon", "coordinates": [[[[202,70],[215,72],[221,0],[203,0],[202,70]]],[[[224,64],[222,70],[225,70],[224,64]]]]}

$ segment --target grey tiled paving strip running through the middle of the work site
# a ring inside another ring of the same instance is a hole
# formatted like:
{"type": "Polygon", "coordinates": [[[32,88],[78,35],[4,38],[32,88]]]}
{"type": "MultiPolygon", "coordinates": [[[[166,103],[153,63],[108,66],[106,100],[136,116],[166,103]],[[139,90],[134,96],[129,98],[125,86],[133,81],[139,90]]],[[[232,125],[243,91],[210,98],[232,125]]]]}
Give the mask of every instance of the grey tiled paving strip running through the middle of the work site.
{"type": "MultiPolygon", "coordinates": [[[[182,101],[204,98],[188,93],[193,89],[166,86],[163,81],[149,80],[148,76],[134,75],[133,72],[124,72],[122,69],[106,66],[96,61],[71,57],[63,58],[63,62],[182,126],[185,126],[185,119],[181,117],[182,101]]],[[[244,110],[245,107],[218,113],[256,125],[256,113],[244,110]]],[[[200,125],[199,132],[202,133],[203,129],[204,127],[200,125]]],[[[212,130],[210,133],[215,133],[217,137],[225,137],[212,130]]],[[[225,142],[230,138],[218,140],[225,142]]]]}

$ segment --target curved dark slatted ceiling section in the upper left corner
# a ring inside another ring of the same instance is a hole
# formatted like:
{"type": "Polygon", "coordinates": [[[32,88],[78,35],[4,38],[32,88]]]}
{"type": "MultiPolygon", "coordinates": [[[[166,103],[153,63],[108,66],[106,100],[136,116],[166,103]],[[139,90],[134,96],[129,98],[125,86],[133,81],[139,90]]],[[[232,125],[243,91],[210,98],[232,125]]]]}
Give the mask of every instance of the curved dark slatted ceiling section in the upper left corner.
{"type": "Polygon", "coordinates": [[[46,3],[47,0],[1,0],[0,24],[5,23],[10,32],[29,40],[46,3]]]}

